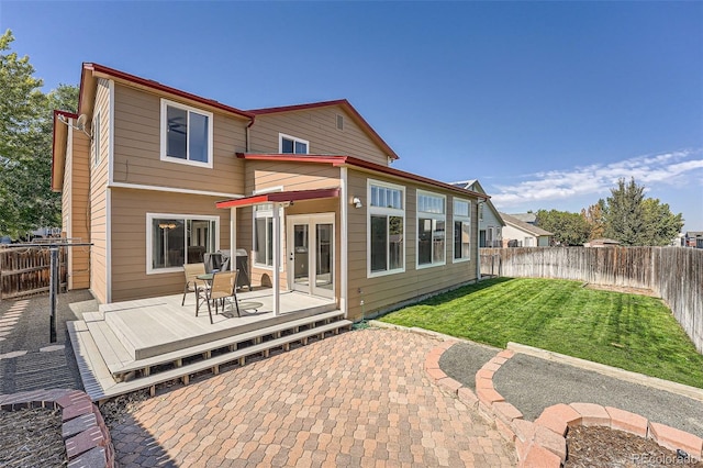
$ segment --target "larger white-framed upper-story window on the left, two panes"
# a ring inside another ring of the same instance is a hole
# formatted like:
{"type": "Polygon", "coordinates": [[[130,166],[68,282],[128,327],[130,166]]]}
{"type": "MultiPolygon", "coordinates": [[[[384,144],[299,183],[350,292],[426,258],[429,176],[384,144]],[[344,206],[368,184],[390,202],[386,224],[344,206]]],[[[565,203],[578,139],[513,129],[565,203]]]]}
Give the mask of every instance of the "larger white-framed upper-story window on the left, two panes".
{"type": "Polygon", "coordinates": [[[161,160],[212,167],[212,113],[161,99],[161,160]]]}

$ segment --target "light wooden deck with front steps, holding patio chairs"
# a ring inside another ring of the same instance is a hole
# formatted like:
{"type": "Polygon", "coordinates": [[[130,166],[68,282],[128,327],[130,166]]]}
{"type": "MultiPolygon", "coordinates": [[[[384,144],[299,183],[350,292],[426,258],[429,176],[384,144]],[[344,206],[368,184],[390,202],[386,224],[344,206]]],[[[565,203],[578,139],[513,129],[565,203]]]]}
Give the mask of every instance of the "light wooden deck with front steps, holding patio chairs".
{"type": "Polygon", "coordinates": [[[268,356],[350,326],[336,303],[297,292],[280,296],[280,310],[271,310],[270,290],[241,292],[238,317],[227,309],[210,323],[207,307],[196,316],[191,293],[104,304],[83,320],[69,323],[86,392],[104,400],[174,379],[188,382],[192,374],[236,363],[248,356],[268,356]]]}

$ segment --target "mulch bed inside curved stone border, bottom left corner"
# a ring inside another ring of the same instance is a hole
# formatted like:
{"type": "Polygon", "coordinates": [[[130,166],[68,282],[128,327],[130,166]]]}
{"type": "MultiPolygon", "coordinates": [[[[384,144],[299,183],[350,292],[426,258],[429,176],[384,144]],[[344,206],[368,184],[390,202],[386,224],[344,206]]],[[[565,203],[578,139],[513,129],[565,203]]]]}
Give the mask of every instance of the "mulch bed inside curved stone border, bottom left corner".
{"type": "Polygon", "coordinates": [[[0,467],[65,467],[62,412],[36,408],[0,411],[0,467]]]}

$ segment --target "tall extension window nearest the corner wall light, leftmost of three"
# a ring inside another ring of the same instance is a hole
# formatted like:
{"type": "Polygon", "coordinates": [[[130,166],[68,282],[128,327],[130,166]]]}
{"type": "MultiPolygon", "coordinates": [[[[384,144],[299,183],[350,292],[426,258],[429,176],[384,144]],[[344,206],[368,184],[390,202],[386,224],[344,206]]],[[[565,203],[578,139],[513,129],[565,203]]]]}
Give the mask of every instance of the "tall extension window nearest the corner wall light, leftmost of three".
{"type": "Polygon", "coordinates": [[[368,276],[405,271],[405,188],[368,181],[368,276]]]}

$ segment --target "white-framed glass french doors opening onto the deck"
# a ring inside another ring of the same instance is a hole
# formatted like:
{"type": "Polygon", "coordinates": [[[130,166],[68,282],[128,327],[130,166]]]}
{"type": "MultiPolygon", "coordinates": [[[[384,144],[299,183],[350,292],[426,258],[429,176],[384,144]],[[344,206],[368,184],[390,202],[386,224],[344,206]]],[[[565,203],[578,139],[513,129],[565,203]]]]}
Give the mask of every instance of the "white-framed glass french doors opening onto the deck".
{"type": "Polygon", "coordinates": [[[334,213],[287,216],[288,285],[334,298],[334,213]]]}

